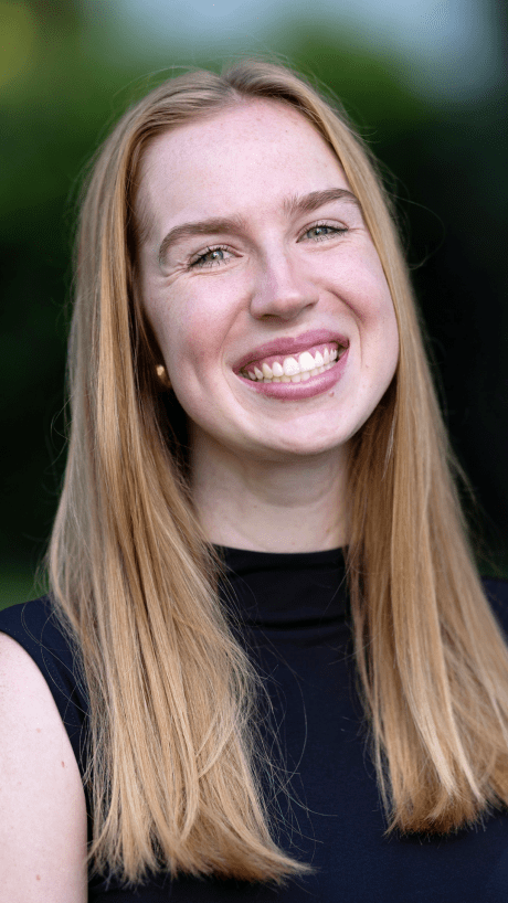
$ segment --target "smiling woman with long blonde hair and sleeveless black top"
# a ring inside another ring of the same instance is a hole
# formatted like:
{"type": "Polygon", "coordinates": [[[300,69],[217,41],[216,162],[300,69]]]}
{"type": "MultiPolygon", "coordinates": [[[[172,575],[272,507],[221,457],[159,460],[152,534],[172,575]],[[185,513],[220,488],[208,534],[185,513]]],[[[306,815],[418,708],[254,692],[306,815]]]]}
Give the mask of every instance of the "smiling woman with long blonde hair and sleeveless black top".
{"type": "Polygon", "coordinates": [[[260,61],[128,110],[70,362],[51,597],[0,616],[2,899],[502,899],[507,586],[343,115],[260,61]]]}

